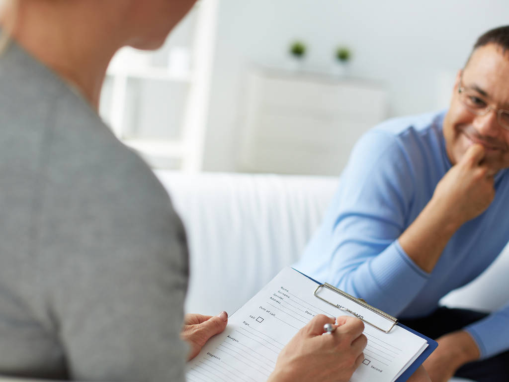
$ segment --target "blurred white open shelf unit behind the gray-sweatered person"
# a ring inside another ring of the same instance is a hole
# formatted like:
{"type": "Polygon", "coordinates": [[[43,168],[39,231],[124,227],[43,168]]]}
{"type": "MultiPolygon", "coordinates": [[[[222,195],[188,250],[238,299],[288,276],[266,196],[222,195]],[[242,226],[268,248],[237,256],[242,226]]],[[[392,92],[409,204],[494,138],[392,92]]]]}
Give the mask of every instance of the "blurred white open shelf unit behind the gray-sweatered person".
{"type": "Polygon", "coordinates": [[[100,114],[153,168],[202,168],[217,7],[200,0],[160,49],[122,48],[108,67],[100,114]]]}

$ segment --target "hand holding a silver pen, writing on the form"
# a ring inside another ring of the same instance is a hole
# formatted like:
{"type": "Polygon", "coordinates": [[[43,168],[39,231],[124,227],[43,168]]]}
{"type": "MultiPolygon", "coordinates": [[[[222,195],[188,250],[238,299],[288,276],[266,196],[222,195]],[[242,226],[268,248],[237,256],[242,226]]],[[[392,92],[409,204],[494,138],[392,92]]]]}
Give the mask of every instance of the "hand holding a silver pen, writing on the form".
{"type": "Polygon", "coordinates": [[[268,382],[348,382],[364,359],[364,324],[354,317],[338,317],[336,330],[323,334],[334,318],[315,316],[279,353],[268,382]]]}

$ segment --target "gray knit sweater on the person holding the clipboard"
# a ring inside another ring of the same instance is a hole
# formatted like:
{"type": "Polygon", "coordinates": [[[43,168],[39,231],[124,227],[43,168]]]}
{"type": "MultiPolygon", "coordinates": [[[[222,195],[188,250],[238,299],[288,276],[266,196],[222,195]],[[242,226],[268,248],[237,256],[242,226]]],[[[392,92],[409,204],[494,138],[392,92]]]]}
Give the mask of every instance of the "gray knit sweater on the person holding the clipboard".
{"type": "Polygon", "coordinates": [[[0,56],[0,374],[184,380],[188,260],[150,169],[16,44],[0,56]]]}

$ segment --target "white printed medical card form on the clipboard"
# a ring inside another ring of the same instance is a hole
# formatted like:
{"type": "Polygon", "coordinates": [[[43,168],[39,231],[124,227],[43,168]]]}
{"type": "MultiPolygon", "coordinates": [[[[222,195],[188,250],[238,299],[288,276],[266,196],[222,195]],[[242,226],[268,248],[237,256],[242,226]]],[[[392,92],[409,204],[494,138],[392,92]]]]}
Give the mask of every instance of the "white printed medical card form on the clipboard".
{"type": "MultiPolygon", "coordinates": [[[[317,314],[351,315],[315,297],[318,284],[287,267],[235,312],[223,333],[187,363],[190,382],[262,382],[290,339],[317,314]]],[[[234,291],[233,291],[234,292],[234,291]]],[[[333,293],[331,302],[358,313],[359,305],[333,293]]],[[[364,313],[364,312],[362,312],[364,313]]],[[[359,313],[358,313],[359,314],[359,313]]],[[[378,316],[365,312],[364,319],[378,316]],[[370,314],[370,316],[367,316],[370,314]]],[[[427,347],[425,339],[394,326],[386,334],[365,324],[364,361],[351,382],[392,382],[427,347]]]]}

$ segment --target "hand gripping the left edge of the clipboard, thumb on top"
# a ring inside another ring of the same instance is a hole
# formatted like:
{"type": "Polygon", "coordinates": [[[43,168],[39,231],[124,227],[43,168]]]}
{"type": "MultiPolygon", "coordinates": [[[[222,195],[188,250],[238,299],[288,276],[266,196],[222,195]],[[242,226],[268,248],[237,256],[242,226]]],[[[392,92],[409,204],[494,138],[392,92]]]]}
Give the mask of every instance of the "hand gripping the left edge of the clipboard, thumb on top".
{"type": "Polygon", "coordinates": [[[187,361],[196,357],[203,345],[212,336],[221,333],[226,328],[227,323],[227,312],[221,312],[217,316],[186,314],[180,337],[189,344],[187,361]]]}

